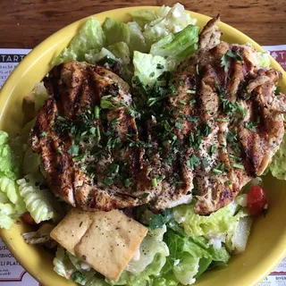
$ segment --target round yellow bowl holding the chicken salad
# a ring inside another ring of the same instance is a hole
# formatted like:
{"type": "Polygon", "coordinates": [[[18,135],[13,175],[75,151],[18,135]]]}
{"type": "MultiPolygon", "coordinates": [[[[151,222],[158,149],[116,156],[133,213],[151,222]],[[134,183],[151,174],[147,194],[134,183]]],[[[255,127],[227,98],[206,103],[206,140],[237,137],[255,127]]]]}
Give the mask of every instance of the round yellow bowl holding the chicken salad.
{"type": "MultiPolygon", "coordinates": [[[[130,21],[129,13],[140,8],[155,11],[158,9],[158,7],[123,8],[98,13],[96,17],[98,21],[104,21],[105,17],[111,17],[117,21],[130,21]]],[[[210,19],[202,14],[190,14],[193,18],[198,19],[200,27],[204,26],[206,21],[210,19]]],[[[14,134],[21,128],[24,123],[22,98],[29,93],[36,82],[43,79],[46,72],[49,71],[51,60],[62,51],[64,46],[69,44],[71,38],[86,20],[87,18],[76,21],[47,38],[30,52],[13,71],[0,93],[0,130],[14,134]]],[[[223,40],[239,44],[248,42],[262,51],[257,43],[237,29],[233,29],[222,22],[219,23],[219,27],[223,31],[223,40]]],[[[282,71],[281,66],[273,59],[272,67],[282,71]]],[[[281,86],[282,91],[286,93],[286,74],[284,71],[283,78],[284,81],[281,86]]],[[[269,211],[266,217],[261,216],[254,223],[246,251],[231,258],[227,268],[204,273],[196,285],[256,285],[286,255],[286,181],[267,178],[265,189],[268,191],[269,211]]],[[[1,230],[0,234],[21,265],[39,282],[46,286],[74,285],[53,271],[53,256],[51,254],[40,247],[29,246],[22,240],[21,233],[29,230],[28,226],[19,223],[15,224],[13,230],[1,230]]]]}

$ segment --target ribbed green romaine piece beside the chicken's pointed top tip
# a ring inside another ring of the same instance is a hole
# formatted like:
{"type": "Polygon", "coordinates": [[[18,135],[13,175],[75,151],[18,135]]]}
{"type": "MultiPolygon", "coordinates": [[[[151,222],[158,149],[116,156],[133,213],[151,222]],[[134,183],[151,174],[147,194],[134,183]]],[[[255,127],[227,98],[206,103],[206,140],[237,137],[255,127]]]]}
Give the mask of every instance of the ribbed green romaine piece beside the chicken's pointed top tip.
{"type": "Polygon", "coordinates": [[[198,33],[199,28],[197,26],[188,25],[181,32],[170,33],[153,44],[150,54],[181,62],[198,50],[198,33]]]}

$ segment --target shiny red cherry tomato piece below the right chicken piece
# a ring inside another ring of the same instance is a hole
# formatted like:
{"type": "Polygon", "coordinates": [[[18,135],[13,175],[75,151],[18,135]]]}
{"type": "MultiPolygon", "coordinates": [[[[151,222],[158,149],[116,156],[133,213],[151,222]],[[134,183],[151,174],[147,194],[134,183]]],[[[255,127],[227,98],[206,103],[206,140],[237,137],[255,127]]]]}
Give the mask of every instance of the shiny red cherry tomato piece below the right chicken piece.
{"type": "Polygon", "coordinates": [[[253,186],[248,192],[248,212],[258,215],[263,212],[266,205],[266,193],[260,186],[253,186]]]}

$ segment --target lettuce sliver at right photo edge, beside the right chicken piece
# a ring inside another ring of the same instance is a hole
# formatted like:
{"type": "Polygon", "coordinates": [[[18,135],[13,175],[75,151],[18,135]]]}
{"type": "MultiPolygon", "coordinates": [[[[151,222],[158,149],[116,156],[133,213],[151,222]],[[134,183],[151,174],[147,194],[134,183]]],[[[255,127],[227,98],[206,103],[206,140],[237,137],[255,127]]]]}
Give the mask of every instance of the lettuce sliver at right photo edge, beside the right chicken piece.
{"type": "Polygon", "coordinates": [[[272,164],[269,169],[273,177],[279,180],[286,180],[286,134],[283,137],[282,144],[276,154],[273,156],[272,164]]]}

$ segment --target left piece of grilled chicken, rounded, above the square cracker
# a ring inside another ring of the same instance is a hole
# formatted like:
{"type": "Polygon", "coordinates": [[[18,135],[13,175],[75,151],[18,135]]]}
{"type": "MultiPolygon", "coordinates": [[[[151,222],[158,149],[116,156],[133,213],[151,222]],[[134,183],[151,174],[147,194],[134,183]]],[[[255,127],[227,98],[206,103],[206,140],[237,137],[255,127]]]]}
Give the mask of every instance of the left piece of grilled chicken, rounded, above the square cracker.
{"type": "Polygon", "coordinates": [[[56,196],[71,206],[105,211],[143,204],[164,209],[190,201],[191,181],[180,188],[152,183],[161,163],[144,158],[126,82],[103,67],[77,62],[56,66],[44,81],[49,97],[38,112],[31,144],[56,196]]]}

